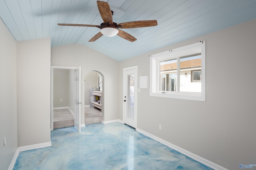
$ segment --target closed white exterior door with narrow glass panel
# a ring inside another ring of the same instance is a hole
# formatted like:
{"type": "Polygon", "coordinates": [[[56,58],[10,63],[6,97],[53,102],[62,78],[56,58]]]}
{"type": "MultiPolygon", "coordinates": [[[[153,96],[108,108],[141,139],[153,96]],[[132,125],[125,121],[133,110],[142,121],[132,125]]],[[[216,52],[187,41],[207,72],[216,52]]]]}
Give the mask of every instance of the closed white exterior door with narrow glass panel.
{"type": "Polygon", "coordinates": [[[137,128],[137,91],[138,66],[123,70],[123,121],[125,124],[137,128]]]}

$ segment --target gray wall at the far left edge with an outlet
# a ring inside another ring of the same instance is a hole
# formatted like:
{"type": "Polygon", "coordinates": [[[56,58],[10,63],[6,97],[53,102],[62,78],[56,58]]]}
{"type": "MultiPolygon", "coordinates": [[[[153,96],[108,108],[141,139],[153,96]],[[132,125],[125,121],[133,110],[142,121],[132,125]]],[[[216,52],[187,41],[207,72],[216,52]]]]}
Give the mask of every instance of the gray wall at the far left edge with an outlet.
{"type": "Polygon", "coordinates": [[[0,37],[0,169],[7,170],[18,148],[17,42],[1,19],[0,37]]]}

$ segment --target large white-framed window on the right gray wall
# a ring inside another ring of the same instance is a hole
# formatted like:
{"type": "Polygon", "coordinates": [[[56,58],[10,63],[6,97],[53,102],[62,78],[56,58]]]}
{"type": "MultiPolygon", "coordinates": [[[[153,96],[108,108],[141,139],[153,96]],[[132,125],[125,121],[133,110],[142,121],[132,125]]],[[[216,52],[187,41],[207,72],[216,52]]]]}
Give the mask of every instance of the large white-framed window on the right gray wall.
{"type": "Polygon", "coordinates": [[[150,96],[205,101],[205,41],[151,55],[150,96]]]}

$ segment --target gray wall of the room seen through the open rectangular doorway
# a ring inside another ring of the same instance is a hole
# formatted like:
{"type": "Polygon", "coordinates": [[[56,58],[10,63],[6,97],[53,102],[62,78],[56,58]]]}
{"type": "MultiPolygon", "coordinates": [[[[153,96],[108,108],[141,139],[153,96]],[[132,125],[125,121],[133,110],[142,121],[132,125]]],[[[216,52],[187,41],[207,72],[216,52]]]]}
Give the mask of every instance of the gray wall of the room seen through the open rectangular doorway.
{"type": "Polygon", "coordinates": [[[53,107],[68,107],[68,102],[69,70],[55,68],[53,72],[53,107]]]}

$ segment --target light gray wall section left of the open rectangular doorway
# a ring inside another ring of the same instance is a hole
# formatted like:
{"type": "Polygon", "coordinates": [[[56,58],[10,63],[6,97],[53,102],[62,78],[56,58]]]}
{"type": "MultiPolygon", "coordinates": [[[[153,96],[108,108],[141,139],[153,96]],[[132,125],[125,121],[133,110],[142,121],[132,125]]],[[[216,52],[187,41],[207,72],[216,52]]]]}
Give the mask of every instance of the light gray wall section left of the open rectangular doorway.
{"type": "Polygon", "coordinates": [[[50,142],[50,38],[18,42],[18,146],[50,142]]]}

